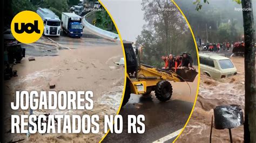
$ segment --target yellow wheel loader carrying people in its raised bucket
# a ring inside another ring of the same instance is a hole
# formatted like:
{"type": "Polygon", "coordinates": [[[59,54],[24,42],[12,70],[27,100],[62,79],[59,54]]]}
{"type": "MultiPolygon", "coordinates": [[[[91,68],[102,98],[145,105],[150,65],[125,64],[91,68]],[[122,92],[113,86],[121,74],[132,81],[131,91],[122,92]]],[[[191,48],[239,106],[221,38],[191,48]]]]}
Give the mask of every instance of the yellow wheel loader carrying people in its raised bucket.
{"type": "MultiPolygon", "coordinates": [[[[177,69],[177,72],[158,69],[137,61],[138,48],[133,48],[133,42],[123,41],[126,56],[126,87],[122,106],[131,94],[149,95],[154,91],[159,101],[169,101],[172,96],[174,82],[193,82],[197,76],[196,70],[177,69]]],[[[139,56],[138,56],[138,59],[139,56]]]]}

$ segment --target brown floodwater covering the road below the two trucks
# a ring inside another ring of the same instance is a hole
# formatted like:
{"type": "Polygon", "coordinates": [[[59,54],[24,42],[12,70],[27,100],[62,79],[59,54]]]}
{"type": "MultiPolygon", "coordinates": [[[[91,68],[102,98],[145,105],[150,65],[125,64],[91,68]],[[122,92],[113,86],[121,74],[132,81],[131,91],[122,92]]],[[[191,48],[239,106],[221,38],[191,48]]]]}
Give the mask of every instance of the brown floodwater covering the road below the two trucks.
{"type": "MultiPolygon", "coordinates": [[[[69,37],[66,37],[70,39],[69,37]]],[[[85,39],[86,40],[86,39],[85,39]]],[[[90,39],[87,39],[90,40],[90,39]]],[[[86,42],[86,41],[84,41],[86,42]]],[[[29,110],[8,111],[4,118],[5,137],[8,141],[32,142],[98,142],[104,135],[104,115],[115,115],[118,111],[123,93],[124,66],[114,62],[123,57],[120,42],[105,41],[100,45],[58,45],[43,37],[37,42],[22,45],[26,48],[26,57],[14,66],[17,77],[5,82],[5,97],[8,98],[6,109],[15,101],[16,91],[93,91],[92,110],[34,110],[35,115],[99,115],[98,134],[11,134],[11,115],[29,115],[29,110]],[[74,48],[75,47],[75,48],[74,48]],[[29,57],[35,61],[29,61],[29,57]],[[56,87],[50,89],[49,82],[56,87]]],[[[84,97],[82,97],[84,98],[84,97]]]]}

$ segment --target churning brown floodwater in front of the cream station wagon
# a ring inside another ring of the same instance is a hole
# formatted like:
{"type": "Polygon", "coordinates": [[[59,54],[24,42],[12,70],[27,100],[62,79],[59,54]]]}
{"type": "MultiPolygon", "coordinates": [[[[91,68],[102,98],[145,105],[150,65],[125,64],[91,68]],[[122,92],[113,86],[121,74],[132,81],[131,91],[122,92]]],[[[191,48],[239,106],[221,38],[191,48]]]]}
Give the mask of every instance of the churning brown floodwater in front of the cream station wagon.
{"type": "MultiPolygon", "coordinates": [[[[208,142],[210,140],[213,109],[218,105],[238,104],[244,112],[244,58],[232,57],[238,74],[220,80],[201,74],[199,94],[194,112],[177,142],[208,142]]],[[[244,142],[244,127],[232,129],[233,142],[244,142]]],[[[212,131],[212,142],[230,142],[228,130],[212,131]]]]}

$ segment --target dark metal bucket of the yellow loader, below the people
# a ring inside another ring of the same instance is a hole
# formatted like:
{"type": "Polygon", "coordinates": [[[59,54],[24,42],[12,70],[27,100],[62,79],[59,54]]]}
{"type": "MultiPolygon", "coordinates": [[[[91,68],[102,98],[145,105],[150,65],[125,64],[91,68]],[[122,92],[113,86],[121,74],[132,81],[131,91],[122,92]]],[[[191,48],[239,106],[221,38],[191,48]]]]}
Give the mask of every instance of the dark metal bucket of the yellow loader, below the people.
{"type": "Polygon", "coordinates": [[[193,69],[183,68],[183,69],[177,69],[176,74],[178,74],[180,77],[181,82],[193,82],[194,78],[197,77],[198,72],[193,69]]]}

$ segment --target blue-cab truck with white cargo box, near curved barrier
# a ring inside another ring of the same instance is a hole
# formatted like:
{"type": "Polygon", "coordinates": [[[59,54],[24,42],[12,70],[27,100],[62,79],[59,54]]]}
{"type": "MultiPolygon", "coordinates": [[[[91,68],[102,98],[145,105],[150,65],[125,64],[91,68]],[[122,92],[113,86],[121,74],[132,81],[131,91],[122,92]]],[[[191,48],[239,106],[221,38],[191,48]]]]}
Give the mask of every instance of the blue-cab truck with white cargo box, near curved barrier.
{"type": "Polygon", "coordinates": [[[62,12],[62,28],[69,37],[82,37],[84,26],[81,23],[82,17],[76,13],[62,12]]]}

